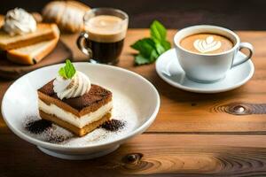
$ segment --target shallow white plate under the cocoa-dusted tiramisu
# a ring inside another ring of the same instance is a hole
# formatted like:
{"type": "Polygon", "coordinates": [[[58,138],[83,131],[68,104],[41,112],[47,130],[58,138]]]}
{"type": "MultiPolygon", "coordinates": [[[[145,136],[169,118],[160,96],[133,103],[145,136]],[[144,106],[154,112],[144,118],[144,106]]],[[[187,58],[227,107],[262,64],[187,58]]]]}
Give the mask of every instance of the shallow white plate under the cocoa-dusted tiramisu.
{"type": "Polygon", "coordinates": [[[116,133],[106,133],[98,128],[82,138],[71,138],[63,144],[45,142],[42,137],[28,133],[23,126],[26,118],[31,115],[38,116],[36,90],[54,79],[59,67],[62,66],[51,65],[27,73],[5,92],[2,114],[7,126],[16,135],[37,145],[40,150],[51,156],[85,159],[103,156],[116,150],[122,142],[143,133],[153,123],[159,111],[160,96],[153,84],[145,78],[110,65],[89,63],[74,63],[74,65],[77,70],[89,75],[92,83],[113,92],[113,118],[125,120],[126,127],[116,133]],[[105,134],[104,138],[102,134],[105,134]]]}

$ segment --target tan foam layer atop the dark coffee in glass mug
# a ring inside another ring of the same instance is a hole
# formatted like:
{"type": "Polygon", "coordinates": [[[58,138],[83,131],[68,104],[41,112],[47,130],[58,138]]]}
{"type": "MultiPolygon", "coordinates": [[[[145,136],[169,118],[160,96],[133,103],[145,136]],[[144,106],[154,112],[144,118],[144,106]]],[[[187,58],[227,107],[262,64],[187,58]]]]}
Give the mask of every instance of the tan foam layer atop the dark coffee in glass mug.
{"type": "Polygon", "coordinates": [[[126,36],[128,22],[112,15],[98,15],[85,21],[85,30],[95,42],[119,42],[126,36]]]}

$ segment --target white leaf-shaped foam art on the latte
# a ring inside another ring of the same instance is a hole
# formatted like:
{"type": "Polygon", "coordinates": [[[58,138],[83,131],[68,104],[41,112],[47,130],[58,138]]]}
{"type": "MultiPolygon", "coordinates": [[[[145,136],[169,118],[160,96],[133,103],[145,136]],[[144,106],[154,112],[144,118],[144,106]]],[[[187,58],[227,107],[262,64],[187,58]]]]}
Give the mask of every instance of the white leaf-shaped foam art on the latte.
{"type": "Polygon", "coordinates": [[[218,50],[222,43],[220,41],[215,41],[213,36],[207,36],[205,40],[197,39],[193,43],[194,48],[201,53],[207,53],[210,51],[218,50]]]}

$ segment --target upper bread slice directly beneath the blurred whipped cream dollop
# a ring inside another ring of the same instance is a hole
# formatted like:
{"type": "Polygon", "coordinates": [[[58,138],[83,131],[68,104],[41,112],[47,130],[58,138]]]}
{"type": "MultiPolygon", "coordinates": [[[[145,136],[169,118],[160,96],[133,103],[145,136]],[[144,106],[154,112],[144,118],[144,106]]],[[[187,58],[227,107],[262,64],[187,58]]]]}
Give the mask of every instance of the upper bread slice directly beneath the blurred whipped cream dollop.
{"type": "Polygon", "coordinates": [[[4,32],[3,29],[0,30],[0,50],[13,50],[28,45],[32,45],[38,42],[43,42],[57,38],[59,34],[59,28],[56,24],[37,24],[37,29],[33,33],[28,33],[25,35],[15,35],[11,36],[4,32]]]}

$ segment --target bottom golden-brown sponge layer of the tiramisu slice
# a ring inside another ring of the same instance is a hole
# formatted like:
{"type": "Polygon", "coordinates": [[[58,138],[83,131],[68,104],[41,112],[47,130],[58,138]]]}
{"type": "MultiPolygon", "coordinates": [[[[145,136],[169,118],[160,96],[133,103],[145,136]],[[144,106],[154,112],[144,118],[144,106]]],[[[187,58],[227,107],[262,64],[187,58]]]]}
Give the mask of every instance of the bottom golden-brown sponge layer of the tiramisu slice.
{"type": "Polygon", "coordinates": [[[66,121],[59,119],[54,115],[47,114],[42,111],[40,111],[40,116],[42,119],[50,120],[51,122],[56,123],[60,127],[68,129],[69,131],[73,132],[75,135],[83,136],[95,130],[97,127],[104,124],[107,120],[111,119],[111,112],[107,112],[106,115],[104,115],[101,119],[98,119],[98,121],[92,122],[91,124],[88,124],[87,126],[82,128],[74,127],[72,124],[69,124],[66,121]]]}

